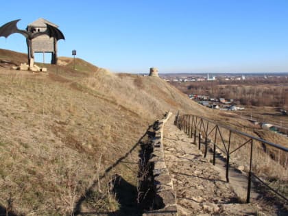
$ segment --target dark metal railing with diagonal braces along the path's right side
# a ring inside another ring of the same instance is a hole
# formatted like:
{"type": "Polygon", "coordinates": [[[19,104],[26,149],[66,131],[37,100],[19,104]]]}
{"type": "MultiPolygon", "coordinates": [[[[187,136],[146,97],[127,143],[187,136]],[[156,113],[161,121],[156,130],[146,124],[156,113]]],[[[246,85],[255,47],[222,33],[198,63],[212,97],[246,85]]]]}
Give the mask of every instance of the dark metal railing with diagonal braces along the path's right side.
{"type": "MultiPolygon", "coordinates": [[[[288,182],[288,148],[281,145],[259,139],[258,137],[246,134],[239,130],[232,129],[225,125],[220,125],[215,121],[198,117],[195,115],[178,115],[174,124],[180,130],[184,130],[193,143],[198,148],[203,148],[204,157],[207,156],[208,150],[213,152],[213,165],[215,165],[217,152],[221,154],[226,163],[226,182],[229,182],[229,167],[231,165],[231,155],[235,156],[232,163],[239,166],[248,165],[245,167],[248,172],[248,186],[246,202],[250,202],[250,194],[252,187],[252,177],[263,184],[267,189],[273,191],[281,197],[285,202],[288,202],[287,191],[279,191],[267,184],[263,180],[263,175],[267,175],[267,167],[271,176],[282,175],[284,182],[288,182]],[[197,143],[196,143],[197,142],[197,143]],[[237,154],[235,154],[237,152],[237,154]],[[273,173],[276,172],[276,173],[273,173]],[[284,193],[284,194],[283,194],[284,193]]],[[[287,185],[286,187],[287,188],[287,185]]]]}

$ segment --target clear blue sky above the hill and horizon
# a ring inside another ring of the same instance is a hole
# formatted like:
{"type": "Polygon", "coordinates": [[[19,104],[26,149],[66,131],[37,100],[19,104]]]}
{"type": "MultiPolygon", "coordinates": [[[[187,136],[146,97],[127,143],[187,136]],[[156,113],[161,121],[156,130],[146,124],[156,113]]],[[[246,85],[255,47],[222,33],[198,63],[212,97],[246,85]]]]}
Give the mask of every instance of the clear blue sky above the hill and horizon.
{"type": "MultiPolygon", "coordinates": [[[[66,38],[58,56],[76,49],[114,72],[288,71],[287,0],[9,0],[1,8],[0,26],[21,19],[25,29],[43,17],[66,38]]],[[[21,34],[1,37],[0,48],[27,51],[21,34]]]]}

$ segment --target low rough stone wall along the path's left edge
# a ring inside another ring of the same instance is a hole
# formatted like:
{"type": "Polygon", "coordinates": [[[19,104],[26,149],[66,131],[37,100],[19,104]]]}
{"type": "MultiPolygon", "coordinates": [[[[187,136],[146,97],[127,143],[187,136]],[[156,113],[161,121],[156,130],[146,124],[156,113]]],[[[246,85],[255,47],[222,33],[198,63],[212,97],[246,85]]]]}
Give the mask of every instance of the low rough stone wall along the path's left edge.
{"type": "Polygon", "coordinates": [[[173,182],[165,164],[163,148],[163,128],[172,113],[167,112],[165,117],[154,123],[155,136],[152,141],[153,151],[149,157],[149,165],[152,166],[152,175],[148,178],[154,180],[153,209],[147,211],[143,216],[152,215],[177,215],[176,191],[173,190],[173,182]]]}

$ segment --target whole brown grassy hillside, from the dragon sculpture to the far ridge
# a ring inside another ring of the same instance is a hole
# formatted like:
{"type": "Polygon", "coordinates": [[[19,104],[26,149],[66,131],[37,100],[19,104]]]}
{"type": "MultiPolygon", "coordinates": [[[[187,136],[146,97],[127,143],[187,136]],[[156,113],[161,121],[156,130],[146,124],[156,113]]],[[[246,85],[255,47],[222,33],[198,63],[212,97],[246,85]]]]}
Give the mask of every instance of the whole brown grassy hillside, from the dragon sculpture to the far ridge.
{"type": "Polygon", "coordinates": [[[136,188],[136,143],[168,110],[254,130],[159,77],[110,73],[80,59],[74,70],[64,57],[45,64],[47,73],[9,69],[26,58],[0,49],[0,214],[117,211],[109,182],[118,175],[136,188]]]}

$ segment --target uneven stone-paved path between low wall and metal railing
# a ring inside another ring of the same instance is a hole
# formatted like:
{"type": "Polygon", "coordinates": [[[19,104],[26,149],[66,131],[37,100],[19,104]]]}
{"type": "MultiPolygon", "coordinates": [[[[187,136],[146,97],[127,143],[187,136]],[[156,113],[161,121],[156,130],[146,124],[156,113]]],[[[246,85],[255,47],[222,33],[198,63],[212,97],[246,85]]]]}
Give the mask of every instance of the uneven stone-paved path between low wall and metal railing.
{"type": "Polygon", "coordinates": [[[202,152],[187,134],[165,124],[165,162],[176,190],[178,215],[255,215],[252,204],[239,204],[230,184],[220,177],[215,167],[203,158],[202,152]]]}

